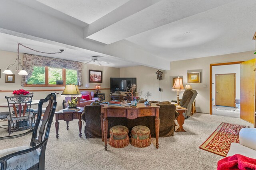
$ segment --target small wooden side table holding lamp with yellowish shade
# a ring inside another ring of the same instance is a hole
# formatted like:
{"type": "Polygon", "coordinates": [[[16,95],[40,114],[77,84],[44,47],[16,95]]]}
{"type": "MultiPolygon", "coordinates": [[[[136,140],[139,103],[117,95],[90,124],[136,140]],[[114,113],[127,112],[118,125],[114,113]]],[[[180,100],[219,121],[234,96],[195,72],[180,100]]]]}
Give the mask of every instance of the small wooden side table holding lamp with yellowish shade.
{"type": "Polygon", "coordinates": [[[64,120],[67,123],[67,130],[68,130],[68,122],[72,121],[73,119],[78,119],[78,127],[79,127],[79,137],[82,137],[82,120],[81,120],[81,115],[83,113],[83,110],[79,111],[65,111],[63,112],[62,110],[55,112],[55,129],[56,129],[56,138],[59,138],[59,126],[60,122],[59,120],[64,120]]]}

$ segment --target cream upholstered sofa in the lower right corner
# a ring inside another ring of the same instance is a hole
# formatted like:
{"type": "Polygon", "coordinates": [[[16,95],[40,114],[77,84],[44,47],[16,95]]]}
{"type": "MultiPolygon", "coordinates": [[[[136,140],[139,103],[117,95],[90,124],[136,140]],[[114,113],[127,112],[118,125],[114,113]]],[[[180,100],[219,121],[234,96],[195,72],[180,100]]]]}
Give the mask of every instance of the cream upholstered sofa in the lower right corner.
{"type": "Polygon", "coordinates": [[[239,143],[231,143],[227,156],[241,154],[256,159],[256,128],[243,128],[239,132],[239,143]]]}

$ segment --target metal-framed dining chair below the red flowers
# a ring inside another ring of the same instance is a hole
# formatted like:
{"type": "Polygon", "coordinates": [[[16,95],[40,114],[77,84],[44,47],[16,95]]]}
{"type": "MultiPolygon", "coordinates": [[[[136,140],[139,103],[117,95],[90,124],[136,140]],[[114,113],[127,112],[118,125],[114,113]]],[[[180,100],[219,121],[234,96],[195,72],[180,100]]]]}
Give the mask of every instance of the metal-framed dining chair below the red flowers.
{"type": "Polygon", "coordinates": [[[9,107],[9,115],[7,116],[9,135],[22,129],[31,129],[33,121],[31,102],[33,95],[5,96],[5,98],[9,107]],[[11,108],[13,111],[11,111],[11,108]]]}

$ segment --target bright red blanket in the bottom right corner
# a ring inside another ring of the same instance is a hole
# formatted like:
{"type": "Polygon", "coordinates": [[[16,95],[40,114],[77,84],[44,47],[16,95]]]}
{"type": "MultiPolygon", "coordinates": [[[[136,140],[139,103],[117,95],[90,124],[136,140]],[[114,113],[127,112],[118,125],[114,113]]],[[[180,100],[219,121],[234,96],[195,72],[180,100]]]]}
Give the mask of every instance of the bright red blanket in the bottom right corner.
{"type": "Polygon", "coordinates": [[[217,170],[256,170],[256,159],[235,154],[219,160],[217,170]]]}

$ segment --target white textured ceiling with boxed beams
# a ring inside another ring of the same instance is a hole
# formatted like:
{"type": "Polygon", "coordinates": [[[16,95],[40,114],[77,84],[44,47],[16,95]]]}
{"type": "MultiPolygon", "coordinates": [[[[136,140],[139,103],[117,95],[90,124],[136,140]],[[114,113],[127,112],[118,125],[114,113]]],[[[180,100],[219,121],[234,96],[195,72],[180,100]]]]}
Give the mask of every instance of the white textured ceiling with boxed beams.
{"type": "MultiPolygon", "coordinates": [[[[168,70],[169,61],[255,50],[255,9],[255,0],[9,0],[0,6],[0,32],[66,48],[64,58],[168,70]]],[[[2,38],[10,43],[0,49],[16,51],[18,40],[2,38]]]]}

